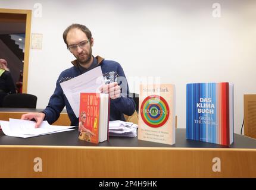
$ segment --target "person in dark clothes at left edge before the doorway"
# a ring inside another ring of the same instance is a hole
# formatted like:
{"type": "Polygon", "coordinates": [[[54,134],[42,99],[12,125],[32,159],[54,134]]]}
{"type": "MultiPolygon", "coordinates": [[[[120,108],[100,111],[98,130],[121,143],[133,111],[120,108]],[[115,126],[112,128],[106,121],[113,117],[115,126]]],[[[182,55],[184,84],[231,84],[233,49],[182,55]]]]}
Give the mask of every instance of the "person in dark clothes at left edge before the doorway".
{"type": "Polygon", "coordinates": [[[16,93],[13,77],[7,68],[7,61],[0,59],[0,92],[7,94],[16,93]]]}

